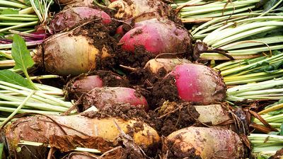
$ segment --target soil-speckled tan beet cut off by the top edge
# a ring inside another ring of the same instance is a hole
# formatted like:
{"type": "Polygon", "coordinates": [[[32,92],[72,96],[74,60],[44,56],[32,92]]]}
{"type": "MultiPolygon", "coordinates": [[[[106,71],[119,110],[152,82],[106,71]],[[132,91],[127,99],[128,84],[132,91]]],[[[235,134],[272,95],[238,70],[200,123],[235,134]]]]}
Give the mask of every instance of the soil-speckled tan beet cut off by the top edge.
{"type": "Polygon", "coordinates": [[[172,9],[160,0],[117,0],[108,5],[108,8],[114,8],[117,11],[115,18],[122,20],[134,18],[141,21],[175,16],[172,9]]]}

